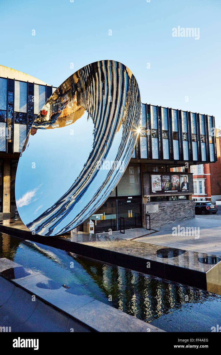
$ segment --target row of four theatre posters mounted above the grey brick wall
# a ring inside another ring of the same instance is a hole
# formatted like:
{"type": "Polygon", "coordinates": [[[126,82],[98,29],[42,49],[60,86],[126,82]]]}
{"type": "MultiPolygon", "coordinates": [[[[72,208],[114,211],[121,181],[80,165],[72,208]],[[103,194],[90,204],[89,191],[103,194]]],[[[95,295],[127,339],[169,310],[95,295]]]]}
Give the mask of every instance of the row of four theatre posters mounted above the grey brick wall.
{"type": "Polygon", "coordinates": [[[151,174],[151,193],[189,192],[188,174],[151,174]]]}

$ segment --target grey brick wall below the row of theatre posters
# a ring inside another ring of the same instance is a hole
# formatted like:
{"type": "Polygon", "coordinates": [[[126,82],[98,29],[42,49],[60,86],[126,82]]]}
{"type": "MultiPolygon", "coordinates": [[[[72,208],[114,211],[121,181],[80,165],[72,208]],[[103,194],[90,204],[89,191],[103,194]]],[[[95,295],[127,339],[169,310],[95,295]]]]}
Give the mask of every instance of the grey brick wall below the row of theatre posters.
{"type": "MultiPolygon", "coordinates": [[[[185,218],[195,217],[194,201],[165,201],[165,202],[148,202],[142,204],[143,227],[145,228],[146,204],[158,204],[159,212],[150,213],[151,228],[164,225],[168,222],[175,222],[185,218]]],[[[149,227],[149,217],[147,217],[147,227],[149,227]]]]}

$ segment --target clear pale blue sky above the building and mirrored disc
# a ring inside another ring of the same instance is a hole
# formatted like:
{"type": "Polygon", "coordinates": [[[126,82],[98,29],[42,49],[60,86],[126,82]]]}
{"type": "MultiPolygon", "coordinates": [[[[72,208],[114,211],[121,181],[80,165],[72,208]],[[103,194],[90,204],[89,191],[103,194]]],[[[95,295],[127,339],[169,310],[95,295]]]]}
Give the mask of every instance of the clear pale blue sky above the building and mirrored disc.
{"type": "Polygon", "coordinates": [[[0,64],[59,86],[84,65],[117,60],[143,103],[214,115],[221,126],[220,0],[11,0],[0,9],[0,64]],[[172,37],[178,26],[199,28],[199,39],[172,37]]]}

